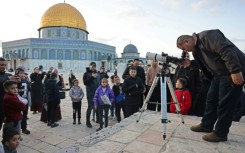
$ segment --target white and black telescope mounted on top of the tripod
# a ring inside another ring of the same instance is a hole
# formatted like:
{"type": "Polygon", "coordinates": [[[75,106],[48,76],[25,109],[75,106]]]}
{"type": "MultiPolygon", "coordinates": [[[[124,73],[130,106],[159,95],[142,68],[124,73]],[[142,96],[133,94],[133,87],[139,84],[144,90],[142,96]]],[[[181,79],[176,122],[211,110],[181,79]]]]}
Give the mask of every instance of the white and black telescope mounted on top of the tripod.
{"type": "Polygon", "coordinates": [[[147,60],[156,60],[156,61],[160,61],[163,63],[174,63],[174,64],[180,64],[184,61],[183,58],[168,56],[168,54],[166,54],[164,52],[162,52],[162,55],[157,54],[157,53],[147,52],[146,53],[146,59],[147,60]]]}

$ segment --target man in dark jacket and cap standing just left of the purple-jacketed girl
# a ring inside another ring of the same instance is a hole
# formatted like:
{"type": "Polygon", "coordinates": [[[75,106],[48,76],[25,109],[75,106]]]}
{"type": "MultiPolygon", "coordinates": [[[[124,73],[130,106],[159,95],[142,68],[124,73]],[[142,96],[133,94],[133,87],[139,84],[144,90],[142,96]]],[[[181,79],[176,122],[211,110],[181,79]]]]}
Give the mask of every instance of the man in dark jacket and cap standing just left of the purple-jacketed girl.
{"type": "MultiPolygon", "coordinates": [[[[88,100],[88,108],[86,112],[86,125],[87,127],[91,128],[92,124],[90,123],[90,115],[91,111],[94,107],[94,94],[96,89],[100,85],[100,76],[96,71],[96,63],[91,62],[89,64],[89,68],[83,75],[83,83],[86,86],[86,94],[87,94],[87,100],[88,100]]],[[[96,113],[96,119],[98,120],[98,113],[96,113]]]]}

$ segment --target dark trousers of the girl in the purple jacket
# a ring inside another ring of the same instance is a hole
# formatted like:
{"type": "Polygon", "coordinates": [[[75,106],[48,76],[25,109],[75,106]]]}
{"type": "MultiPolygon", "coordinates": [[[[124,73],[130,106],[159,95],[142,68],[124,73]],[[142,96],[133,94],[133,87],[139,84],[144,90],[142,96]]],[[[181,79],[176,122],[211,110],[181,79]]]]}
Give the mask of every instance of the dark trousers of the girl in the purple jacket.
{"type": "Polygon", "coordinates": [[[109,108],[110,105],[97,105],[97,110],[99,113],[99,123],[100,123],[100,128],[103,128],[103,116],[105,117],[105,127],[108,126],[108,113],[109,113],[109,108]]]}

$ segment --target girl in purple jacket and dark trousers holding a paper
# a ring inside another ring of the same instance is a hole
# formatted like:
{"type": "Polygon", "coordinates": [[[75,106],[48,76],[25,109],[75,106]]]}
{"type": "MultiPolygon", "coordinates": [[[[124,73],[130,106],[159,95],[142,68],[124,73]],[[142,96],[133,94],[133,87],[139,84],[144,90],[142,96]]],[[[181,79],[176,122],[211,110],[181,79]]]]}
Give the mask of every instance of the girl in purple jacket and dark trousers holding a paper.
{"type": "Polygon", "coordinates": [[[111,103],[114,101],[114,93],[111,90],[110,86],[108,85],[108,80],[106,78],[103,78],[101,80],[101,85],[96,89],[95,95],[94,95],[94,109],[98,109],[99,113],[99,124],[100,128],[96,131],[99,131],[103,128],[103,112],[105,115],[105,127],[108,126],[108,112],[111,103]],[[107,96],[109,101],[104,101],[103,96],[107,96]]]}

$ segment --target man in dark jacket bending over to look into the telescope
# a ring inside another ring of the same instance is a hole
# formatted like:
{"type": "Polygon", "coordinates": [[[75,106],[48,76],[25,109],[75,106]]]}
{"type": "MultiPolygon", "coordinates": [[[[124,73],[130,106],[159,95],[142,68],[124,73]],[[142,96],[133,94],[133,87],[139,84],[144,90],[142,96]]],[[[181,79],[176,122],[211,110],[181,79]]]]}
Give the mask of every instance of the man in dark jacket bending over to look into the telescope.
{"type": "Polygon", "coordinates": [[[191,130],[210,132],[202,137],[205,141],[227,141],[244,84],[245,54],[220,30],[182,35],[177,39],[177,47],[192,52],[199,68],[211,79],[201,124],[191,130]]]}

